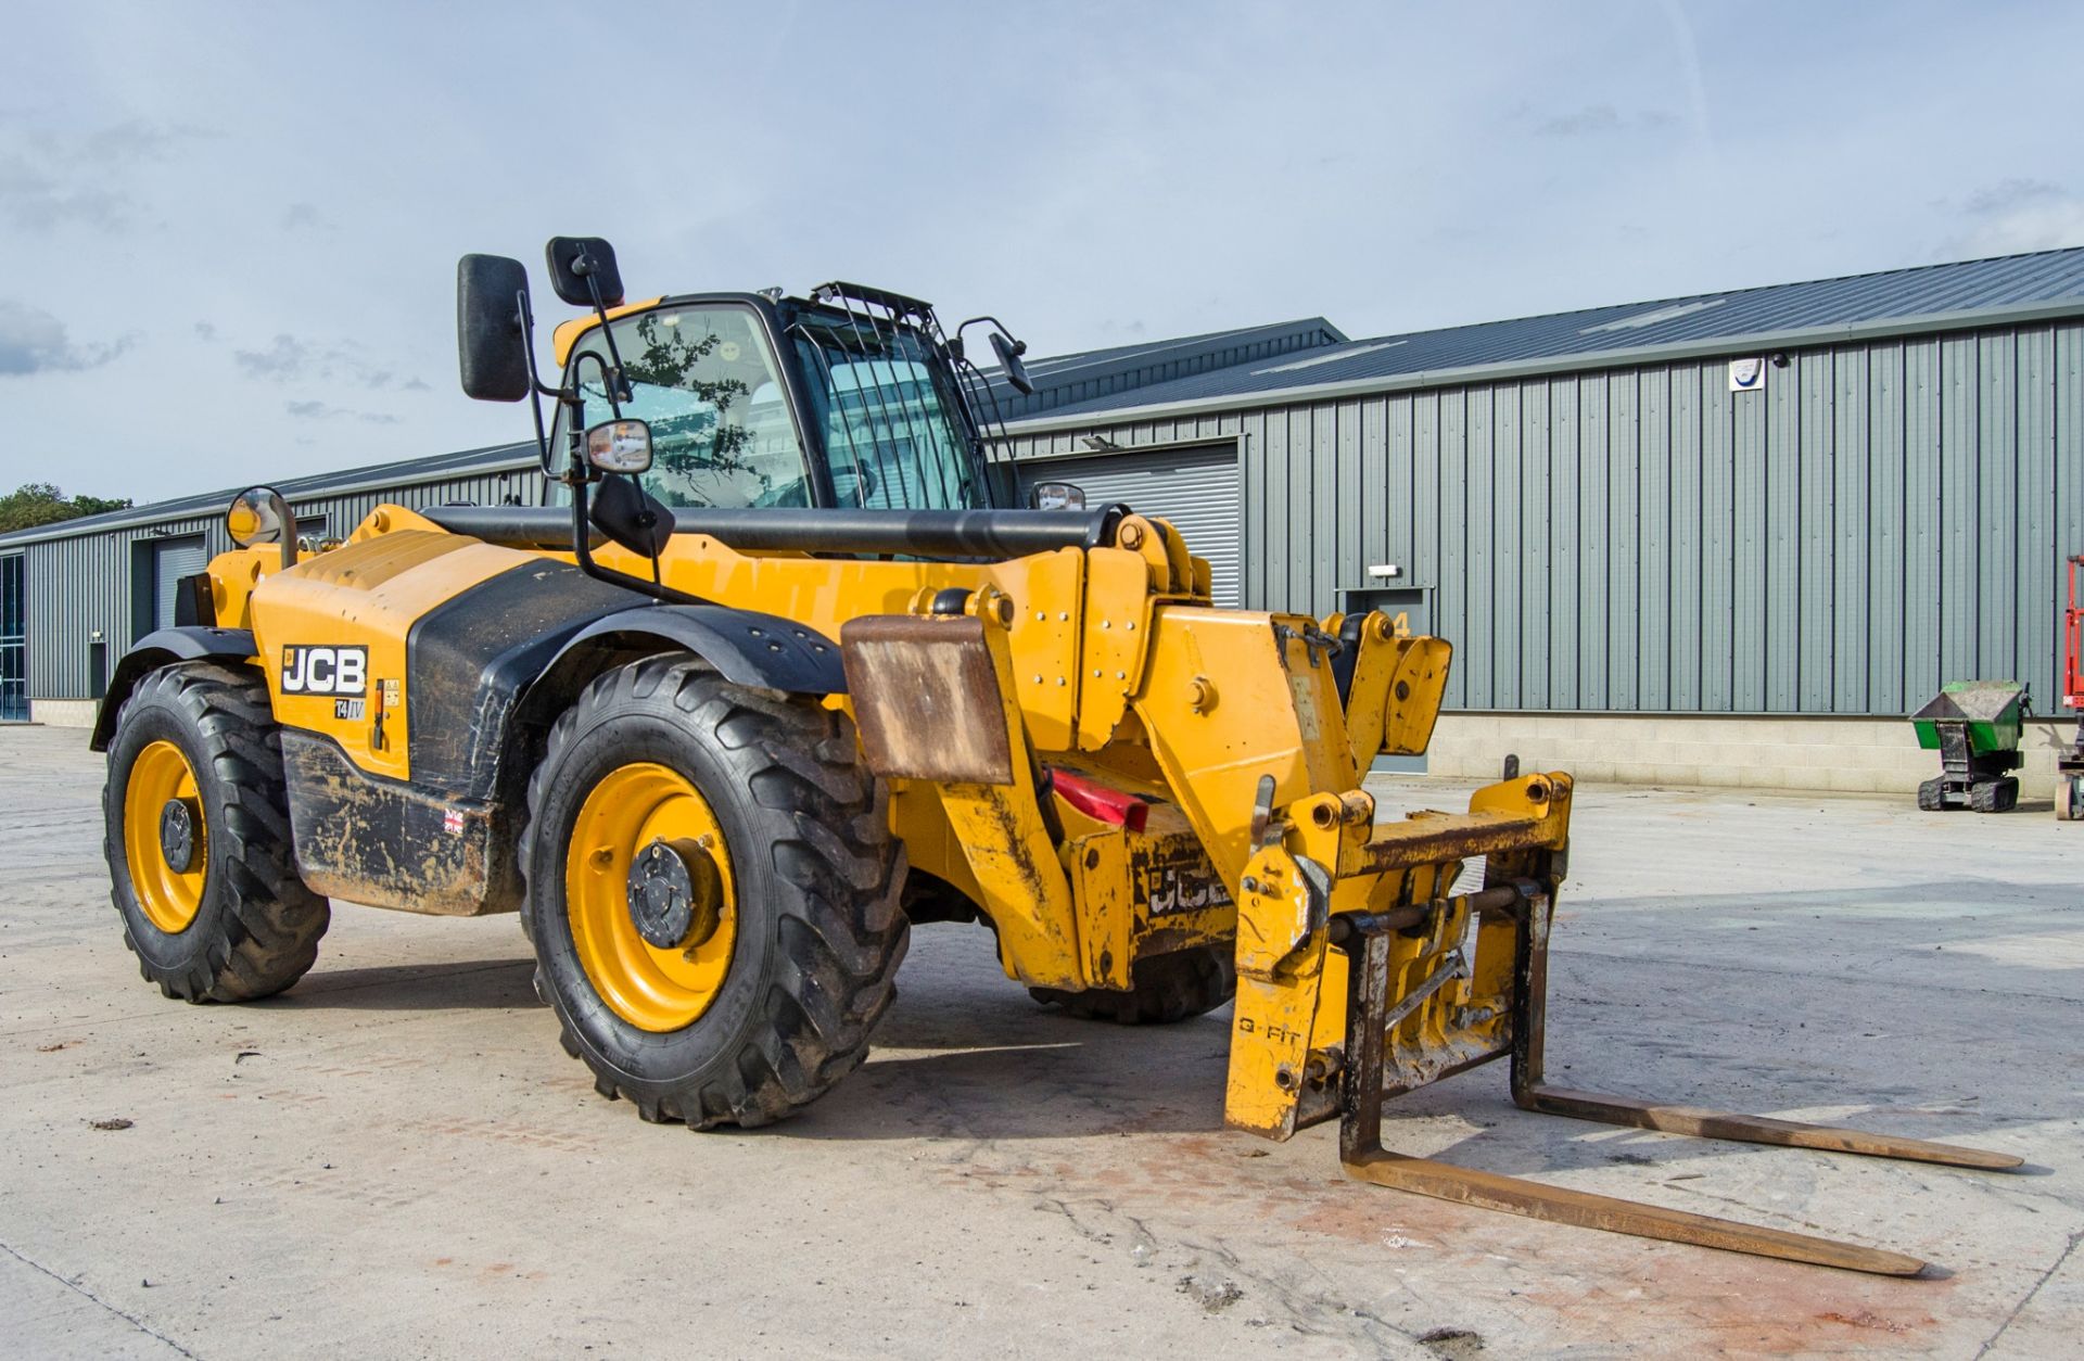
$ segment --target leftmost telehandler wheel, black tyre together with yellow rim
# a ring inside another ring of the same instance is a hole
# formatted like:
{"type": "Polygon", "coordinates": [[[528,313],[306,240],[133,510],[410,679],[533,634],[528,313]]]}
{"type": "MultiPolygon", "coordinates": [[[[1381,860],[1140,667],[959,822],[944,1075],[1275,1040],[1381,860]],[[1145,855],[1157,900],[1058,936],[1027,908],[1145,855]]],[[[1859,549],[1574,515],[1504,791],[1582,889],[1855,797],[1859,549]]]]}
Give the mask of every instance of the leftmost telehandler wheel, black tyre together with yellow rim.
{"type": "Polygon", "coordinates": [[[256,673],[190,661],[138,682],[108,742],[102,821],[123,944],[167,996],[252,1000],[281,992],[319,959],[331,909],[296,875],[281,740],[256,673]],[[185,765],[183,790],[200,813],[200,888],[179,900],[167,894],[169,865],[154,859],[158,827],[140,821],[160,815],[142,807],[156,802],[142,788],[154,763],[185,765]]]}

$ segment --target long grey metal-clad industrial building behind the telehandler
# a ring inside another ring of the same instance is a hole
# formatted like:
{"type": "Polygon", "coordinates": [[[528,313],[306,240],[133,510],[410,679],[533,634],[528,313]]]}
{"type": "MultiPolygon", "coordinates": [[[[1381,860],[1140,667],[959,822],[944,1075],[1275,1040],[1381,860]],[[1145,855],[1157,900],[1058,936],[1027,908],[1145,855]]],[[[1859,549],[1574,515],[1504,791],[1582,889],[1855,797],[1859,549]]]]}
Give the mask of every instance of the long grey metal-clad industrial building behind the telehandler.
{"type": "MultiPolygon", "coordinates": [[[[2084,550],[2084,250],[1353,340],[1315,317],[1029,365],[994,459],[1173,519],[1223,602],[1457,648],[1436,773],[1909,790],[1946,679],[2042,702],[2084,550]]],[[[536,500],[529,446],[283,486],[536,500]]],[[[227,494],[0,538],[10,715],[81,721],[227,494]]],[[[308,521],[306,521],[308,517],[308,521]]],[[[2065,729],[2067,732],[2067,729],[2065,729]]]]}

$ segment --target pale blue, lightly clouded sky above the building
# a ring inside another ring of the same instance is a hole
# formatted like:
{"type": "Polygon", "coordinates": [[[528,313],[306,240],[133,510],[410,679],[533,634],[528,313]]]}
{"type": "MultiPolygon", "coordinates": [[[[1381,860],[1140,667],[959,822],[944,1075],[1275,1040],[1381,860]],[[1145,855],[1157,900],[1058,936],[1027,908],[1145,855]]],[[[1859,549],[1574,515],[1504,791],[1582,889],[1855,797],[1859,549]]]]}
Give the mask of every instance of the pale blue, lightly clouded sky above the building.
{"type": "Polygon", "coordinates": [[[529,438],[454,265],[877,283],[1032,354],[2084,244],[2078,4],[92,4],[0,52],[0,492],[529,438]]]}

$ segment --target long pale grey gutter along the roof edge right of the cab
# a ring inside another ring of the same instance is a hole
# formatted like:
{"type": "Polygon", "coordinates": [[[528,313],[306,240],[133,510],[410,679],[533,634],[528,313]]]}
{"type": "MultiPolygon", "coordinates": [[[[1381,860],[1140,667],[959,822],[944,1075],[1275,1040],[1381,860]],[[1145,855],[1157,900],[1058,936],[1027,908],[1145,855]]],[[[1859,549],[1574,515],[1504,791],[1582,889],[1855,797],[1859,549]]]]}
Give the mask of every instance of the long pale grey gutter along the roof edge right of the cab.
{"type": "Polygon", "coordinates": [[[1125,421],[1161,421],[1184,415],[1207,415],[1219,411],[1240,411],[1250,406],[1292,406],[1296,402],[1330,402],[1338,398],[1371,396],[1380,392],[1411,392],[1415,388],[1457,388],[1465,383],[1486,383],[1509,377],[1538,377],[1544,373],[1634,369],[1640,365],[1665,363],[1673,358],[1709,358],[1721,354],[1742,354],[1746,350],[1794,350],[1794,348],[1815,348],[1815,346],[1859,342],[1859,340],[1886,340],[1890,336],[1971,331],[1992,325],[2059,321],[2065,317],[2084,317],[2084,298],[2063,298],[2059,302],[1984,306],[1965,313],[1932,313],[1926,317],[1886,317],[1880,321],[1846,321],[1838,325],[1794,327],[1786,331],[1753,331],[1746,336],[1709,336],[1703,340],[1676,340],[1655,346],[1634,346],[1628,350],[1592,350],[1578,354],[1557,354],[1548,358],[1509,358],[1488,365],[1465,365],[1459,369],[1419,369],[1413,373],[1390,373],[1380,377],[1350,377],[1334,383],[1305,383],[1296,388],[1267,388],[1263,392],[1234,392],[1227,396],[1186,398],[1177,402],[1152,402],[1148,406],[1113,406],[1105,411],[1088,409],[1069,415],[1007,421],[1007,436],[1040,436],[1065,429],[1096,429],[1107,425],[1121,425],[1125,421]]]}

